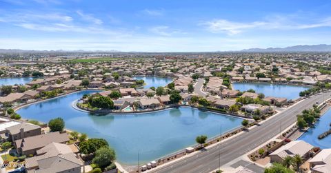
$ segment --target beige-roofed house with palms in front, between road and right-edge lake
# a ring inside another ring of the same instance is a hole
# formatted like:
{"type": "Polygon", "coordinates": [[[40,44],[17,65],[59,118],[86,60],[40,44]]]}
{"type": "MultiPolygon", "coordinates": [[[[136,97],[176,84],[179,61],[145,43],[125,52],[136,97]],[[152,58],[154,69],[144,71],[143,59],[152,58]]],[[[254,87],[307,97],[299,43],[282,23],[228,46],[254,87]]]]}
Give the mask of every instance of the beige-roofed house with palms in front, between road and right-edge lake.
{"type": "Polygon", "coordinates": [[[282,163],[286,156],[295,156],[296,154],[299,154],[303,159],[308,159],[312,148],[314,148],[314,146],[305,141],[291,141],[272,152],[269,155],[270,161],[282,163]]]}

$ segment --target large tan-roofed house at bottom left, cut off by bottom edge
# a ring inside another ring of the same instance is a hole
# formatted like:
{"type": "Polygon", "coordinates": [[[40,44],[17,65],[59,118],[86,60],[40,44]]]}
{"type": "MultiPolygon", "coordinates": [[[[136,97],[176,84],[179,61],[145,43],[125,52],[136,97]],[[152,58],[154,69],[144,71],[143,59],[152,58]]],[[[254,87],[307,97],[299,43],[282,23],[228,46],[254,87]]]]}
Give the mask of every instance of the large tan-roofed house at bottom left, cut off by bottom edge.
{"type": "Polygon", "coordinates": [[[81,172],[83,162],[62,143],[50,143],[37,150],[37,156],[26,159],[29,172],[81,172]]]}

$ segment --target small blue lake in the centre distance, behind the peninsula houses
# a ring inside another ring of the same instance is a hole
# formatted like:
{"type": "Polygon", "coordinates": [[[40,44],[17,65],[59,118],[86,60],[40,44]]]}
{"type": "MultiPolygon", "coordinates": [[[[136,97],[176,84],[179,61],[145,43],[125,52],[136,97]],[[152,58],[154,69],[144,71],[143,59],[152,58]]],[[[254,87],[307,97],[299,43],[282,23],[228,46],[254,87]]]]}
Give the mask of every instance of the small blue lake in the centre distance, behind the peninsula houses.
{"type": "Polygon", "coordinates": [[[172,79],[169,77],[134,77],[134,79],[143,79],[146,83],[143,88],[151,88],[153,86],[155,88],[158,88],[159,86],[164,87],[165,85],[168,85],[168,83],[172,82],[172,79]]]}

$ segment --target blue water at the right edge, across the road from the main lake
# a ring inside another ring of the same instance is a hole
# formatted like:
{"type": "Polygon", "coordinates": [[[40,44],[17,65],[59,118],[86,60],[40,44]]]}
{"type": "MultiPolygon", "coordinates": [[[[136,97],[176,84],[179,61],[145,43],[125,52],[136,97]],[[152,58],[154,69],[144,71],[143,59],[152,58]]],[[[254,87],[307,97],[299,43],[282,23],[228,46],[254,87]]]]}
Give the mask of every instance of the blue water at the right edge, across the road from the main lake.
{"type": "Polygon", "coordinates": [[[321,148],[330,148],[331,147],[331,135],[325,137],[324,139],[319,140],[317,137],[319,134],[328,131],[331,123],[331,110],[325,112],[321,119],[317,123],[315,123],[314,128],[310,128],[307,132],[305,132],[298,140],[303,140],[315,147],[321,148]]]}

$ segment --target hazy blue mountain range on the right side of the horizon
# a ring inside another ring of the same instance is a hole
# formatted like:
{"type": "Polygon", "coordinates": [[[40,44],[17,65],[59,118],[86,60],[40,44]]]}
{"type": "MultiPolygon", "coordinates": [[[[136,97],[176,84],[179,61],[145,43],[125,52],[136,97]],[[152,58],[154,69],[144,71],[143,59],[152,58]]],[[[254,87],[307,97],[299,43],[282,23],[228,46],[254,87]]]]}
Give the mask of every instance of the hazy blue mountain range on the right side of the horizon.
{"type": "Polygon", "coordinates": [[[294,45],[286,48],[252,48],[241,52],[331,52],[331,45],[294,45]]]}

